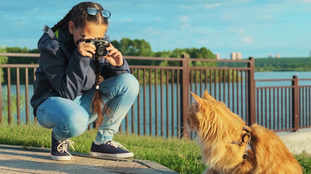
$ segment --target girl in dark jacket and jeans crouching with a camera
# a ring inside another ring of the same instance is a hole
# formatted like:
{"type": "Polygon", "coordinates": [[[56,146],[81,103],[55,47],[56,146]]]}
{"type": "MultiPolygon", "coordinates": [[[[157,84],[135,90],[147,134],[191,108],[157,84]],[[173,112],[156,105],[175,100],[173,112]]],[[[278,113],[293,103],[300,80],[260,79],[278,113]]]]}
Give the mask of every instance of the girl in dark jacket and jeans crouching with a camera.
{"type": "Polygon", "coordinates": [[[104,118],[90,155],[134,156],[112,138],[138,95],[138,81],[111,43],[102,57],[95,43],[85,42],[106,38],[109,17],[100,4],[81,2],[54,27],[45,26],[38,41],[31,105],[39,124],[52,129],[52,160],[70,160],[69,138],[81,135],[98,117],[104,118]]]}

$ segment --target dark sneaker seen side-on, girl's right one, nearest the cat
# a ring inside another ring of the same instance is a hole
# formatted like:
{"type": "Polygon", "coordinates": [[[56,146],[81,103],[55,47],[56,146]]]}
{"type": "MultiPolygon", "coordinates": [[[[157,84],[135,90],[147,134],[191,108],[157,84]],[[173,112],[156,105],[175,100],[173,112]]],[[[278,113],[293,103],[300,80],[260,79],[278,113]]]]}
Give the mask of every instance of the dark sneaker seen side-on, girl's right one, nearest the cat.
{"type": "Polygon", "coordinates": [[[131,158],[134,156],[132,152],[127,149],[123,150],[120,147],[126,149],[120,143],[114,141],[108,141],[106,144],[96,145],[94,142],[91,145],[89,152],[90,156],[94,157],[110,157],[110,158],[131,158]]]}

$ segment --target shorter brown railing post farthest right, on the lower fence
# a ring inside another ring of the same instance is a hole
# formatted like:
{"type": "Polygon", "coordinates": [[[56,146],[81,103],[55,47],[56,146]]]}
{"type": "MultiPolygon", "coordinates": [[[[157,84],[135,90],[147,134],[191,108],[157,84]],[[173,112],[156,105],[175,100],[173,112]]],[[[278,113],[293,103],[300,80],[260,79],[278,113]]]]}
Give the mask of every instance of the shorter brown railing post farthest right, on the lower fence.
{"type": "Polygon", "coordinates": [[[298,87],[298,76],[293,76],[292,81],[292,123],[293,123],[293,131],[297,131],[299,127],[299,87],[298,87]]]}

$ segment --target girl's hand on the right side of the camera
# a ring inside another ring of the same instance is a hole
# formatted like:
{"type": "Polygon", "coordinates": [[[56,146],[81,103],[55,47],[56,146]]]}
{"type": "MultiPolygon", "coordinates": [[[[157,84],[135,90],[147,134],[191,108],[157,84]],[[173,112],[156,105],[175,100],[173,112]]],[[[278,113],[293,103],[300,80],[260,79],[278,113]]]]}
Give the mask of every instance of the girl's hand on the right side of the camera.
{"type": "Polygon", "coordinates": [[[123,65],[123,56],[120,51],[118,51],[117,48],[115,48],[111,43],[109,43],[109,46],[106,48],[108,50],[107,56],[104,58],[108,60],[109,64],[111,66],[121,66],[123,65]]]}

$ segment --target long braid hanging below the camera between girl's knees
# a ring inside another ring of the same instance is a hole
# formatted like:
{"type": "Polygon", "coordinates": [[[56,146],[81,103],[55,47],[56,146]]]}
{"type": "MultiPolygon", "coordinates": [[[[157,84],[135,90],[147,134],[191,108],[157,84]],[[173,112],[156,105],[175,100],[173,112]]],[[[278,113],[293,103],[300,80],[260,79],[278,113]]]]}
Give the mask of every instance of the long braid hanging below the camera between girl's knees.
{"type": "Polygon", "coordinates": [[[97,113],[97,116],[99,116],[100,119],[103,119],[104,115],[103,115],[102,105],[104,106],[105,113],[108,114],[109,117],[110,117],[110,114],[109,114],[110,109],[104,104],[102,96],[99,92],[99,83],[101,80],[101,75],[100,75],[101,67],[99,65],[99,58],[100,57],[97,55],[94,58],[94,65],[95,65],[95,71],[96,71],[96,79],[95,79],[96,91],[92,99],[92,105],[93,105],[93,112],[97,113]]]}

